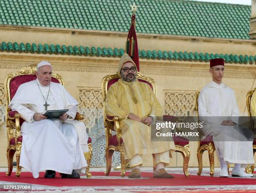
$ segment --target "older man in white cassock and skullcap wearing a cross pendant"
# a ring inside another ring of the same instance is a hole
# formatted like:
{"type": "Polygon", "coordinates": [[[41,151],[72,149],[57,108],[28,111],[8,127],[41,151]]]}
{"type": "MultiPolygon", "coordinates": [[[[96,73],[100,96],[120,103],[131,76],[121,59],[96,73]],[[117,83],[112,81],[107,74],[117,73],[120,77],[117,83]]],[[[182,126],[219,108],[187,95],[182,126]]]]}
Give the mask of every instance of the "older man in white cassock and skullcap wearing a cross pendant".
{"type": "Polygon", "coordinates": [[[74,120],[78,102],[58,83],[51,82],[52,67],[42,61],[36,68],[37,79],[19,86],[9,107],[18,111],[25,122],[20,166],[38,178],[46,170],[45,178],[80,178],[85,173],[88,152],[85,125],[74,120]],[[68,109],[58,119],[47,119],[46,110],[68,109]]]}

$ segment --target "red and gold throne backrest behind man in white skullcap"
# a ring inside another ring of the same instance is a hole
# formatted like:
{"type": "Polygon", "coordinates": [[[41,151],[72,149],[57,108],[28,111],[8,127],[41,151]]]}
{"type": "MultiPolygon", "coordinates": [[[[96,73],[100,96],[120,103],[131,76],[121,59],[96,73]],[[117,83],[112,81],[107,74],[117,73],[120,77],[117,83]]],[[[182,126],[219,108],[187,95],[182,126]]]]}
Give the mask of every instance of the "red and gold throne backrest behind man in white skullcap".
{"type": "MultiPolygon", "coordinates": [[[[18,87],[23,83],[36,80],[36,66],[37,65],[29,65],[26,68],[22,68],[14,73],[9,73],[6,76],[4,87],[7,112],[10,110],[8,105],[18,90],[18,87]]],[[[63,78],[58,74],[52,74],[51,82],[60,83],[64,86],[63,78]]]]}

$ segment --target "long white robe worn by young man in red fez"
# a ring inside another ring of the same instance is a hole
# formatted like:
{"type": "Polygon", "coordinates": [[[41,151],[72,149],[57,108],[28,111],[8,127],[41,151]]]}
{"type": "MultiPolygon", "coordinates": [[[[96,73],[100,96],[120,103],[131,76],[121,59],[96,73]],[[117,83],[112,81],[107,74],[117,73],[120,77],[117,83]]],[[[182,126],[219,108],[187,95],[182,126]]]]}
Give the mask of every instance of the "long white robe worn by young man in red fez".
{"type": "MultiPolygon", "coordinates": [[[[229,163],[254,164],[252,141],[226,141],[228,139],[241,139],[243,136],[233,126],[221,125],[223,120],[232,120],[238,124],[239,110],[236,104],[234,91],[221,83],[214,81],[208,83],[198,98],[198,113],[200,120],[204,121],[203,132],[213,135],[213,142],[218,157],[223,156],[229,163]]],[[[220,158],[220,157],[219,157],[220,158]]]]}

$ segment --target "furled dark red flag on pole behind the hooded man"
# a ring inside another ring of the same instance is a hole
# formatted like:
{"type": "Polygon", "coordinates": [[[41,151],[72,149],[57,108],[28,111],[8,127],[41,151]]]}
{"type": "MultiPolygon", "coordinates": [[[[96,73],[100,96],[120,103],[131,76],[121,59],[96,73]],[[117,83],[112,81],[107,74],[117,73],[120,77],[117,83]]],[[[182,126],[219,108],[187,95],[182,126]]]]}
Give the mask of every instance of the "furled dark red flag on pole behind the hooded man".
{"type": "Polygon", "coordinates": [[[126,53],[133,59],[138,71],[140,71],[139,57],[138,57],[138,42],[135,31],[135,14],[131,18],[131,27],[128,32],[128,37],[125,46],[126,53]]]}

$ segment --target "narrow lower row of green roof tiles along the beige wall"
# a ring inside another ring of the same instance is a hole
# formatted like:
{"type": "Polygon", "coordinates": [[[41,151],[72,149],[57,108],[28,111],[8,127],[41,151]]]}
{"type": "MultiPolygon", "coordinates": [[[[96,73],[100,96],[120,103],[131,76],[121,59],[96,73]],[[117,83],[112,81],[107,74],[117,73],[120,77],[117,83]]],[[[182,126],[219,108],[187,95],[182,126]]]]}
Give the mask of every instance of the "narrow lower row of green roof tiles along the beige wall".
{"type": "MultiPolygon", "coordinates": [[[[84,55],[84,56],[101,56],[101,57],[121,57],[124,54],[123,48],[100,48],[84,46],[67,46],[67,45],[48,45],[35,43],[5,43],[0,44],[1,52],[18,52],[18,53],[38,53],[38,54],[62,54],[62,55],[84,55]]],[[[256,64],[256,55],[239,55],[239,54],[213,54],[213,53],[192,53],[180,51],[161,51],[161,50],[139,50],[140,58],[154,60],[184,60],[208,62],[213,58],[224,58],[225,63],[256,64]]]]}

